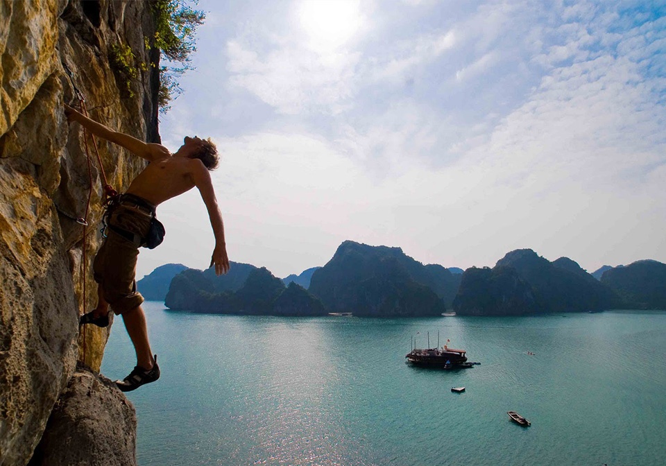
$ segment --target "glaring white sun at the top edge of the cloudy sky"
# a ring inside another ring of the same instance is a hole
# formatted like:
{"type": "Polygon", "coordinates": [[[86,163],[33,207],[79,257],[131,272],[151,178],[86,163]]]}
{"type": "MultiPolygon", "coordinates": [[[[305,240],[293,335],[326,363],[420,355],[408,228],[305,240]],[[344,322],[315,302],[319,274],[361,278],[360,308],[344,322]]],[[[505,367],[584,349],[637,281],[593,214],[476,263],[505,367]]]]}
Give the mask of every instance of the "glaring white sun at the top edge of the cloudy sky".
{"type": "Polygon", "coordinates": [[[305,0],[299,13],[311,45],[319,50],[343,45],[361,24],[358,0],[305,0]]]}

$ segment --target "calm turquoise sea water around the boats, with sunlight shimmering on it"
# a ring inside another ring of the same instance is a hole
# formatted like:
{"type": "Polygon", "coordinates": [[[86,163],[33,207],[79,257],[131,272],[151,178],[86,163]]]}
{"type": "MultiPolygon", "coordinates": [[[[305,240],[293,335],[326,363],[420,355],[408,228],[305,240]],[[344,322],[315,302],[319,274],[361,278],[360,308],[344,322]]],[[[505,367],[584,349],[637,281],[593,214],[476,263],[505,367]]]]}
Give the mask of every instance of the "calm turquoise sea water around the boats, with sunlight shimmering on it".
{"type": "MultiPolygon", "coordinates": [[[[666,464],[664,312],[378,320],[145,309],[162,378],[128,393],[142,466],[666,464]],[[441,345],[450,338],[481,365],[405,364],[411,336],[426,347],[428,331],[432,346],[439,331],[441,345]]],[[[102,372],[122,378],[134,358],[117,320],[102,372]]]]}

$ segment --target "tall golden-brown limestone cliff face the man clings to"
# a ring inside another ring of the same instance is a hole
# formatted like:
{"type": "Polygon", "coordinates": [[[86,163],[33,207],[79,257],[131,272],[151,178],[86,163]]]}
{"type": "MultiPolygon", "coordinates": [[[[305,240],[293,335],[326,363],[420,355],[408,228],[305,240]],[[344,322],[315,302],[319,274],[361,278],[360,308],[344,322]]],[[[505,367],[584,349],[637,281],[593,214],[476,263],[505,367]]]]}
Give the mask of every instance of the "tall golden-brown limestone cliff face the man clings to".
{"type": "MultiPolygon", "coordinates": [[[[84,339],[78,316],[95,299],[102,177],[89,140],[91,189],[83,132],[62,104],[76,86],[92,118],[156,141],[151,37],[149,2],[0,1],[0,465],[31,458],[77,359],[99,370],[108,331],[84,339]]],[[[143,163],[98,144],[122,191],[143,163]]]]}

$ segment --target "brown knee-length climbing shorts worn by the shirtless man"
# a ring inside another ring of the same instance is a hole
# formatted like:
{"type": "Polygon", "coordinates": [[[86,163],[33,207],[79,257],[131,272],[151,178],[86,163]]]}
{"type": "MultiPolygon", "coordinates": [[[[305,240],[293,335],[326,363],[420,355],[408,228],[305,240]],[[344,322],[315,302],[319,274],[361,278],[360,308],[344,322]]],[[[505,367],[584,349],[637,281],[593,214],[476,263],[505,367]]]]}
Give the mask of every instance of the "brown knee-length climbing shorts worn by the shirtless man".
{"type": "MultiPolygon", "coordinates": [[[[121,203],[113,207],[108,225],[145,238],[152,215],[147,209],[121,203]]],[[[153,211],[154,212],[154,211],[153,211]]],[[[139,307],[144,297],[137,291],[139,246],[107,227],[107,237],[93,262],[95,282],[101,285],[104,299],[116,315],[139,307]]]]}

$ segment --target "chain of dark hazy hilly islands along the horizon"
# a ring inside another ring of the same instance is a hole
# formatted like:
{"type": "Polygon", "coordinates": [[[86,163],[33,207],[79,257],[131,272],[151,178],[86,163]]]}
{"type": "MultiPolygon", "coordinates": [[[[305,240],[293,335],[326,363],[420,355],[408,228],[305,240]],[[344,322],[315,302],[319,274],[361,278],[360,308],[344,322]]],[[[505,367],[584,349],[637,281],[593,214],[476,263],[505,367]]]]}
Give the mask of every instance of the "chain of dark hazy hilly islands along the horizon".
{"type": "Polygon", "coordinates": [[[282,279],[232,262],[227,275],[182,264],[138,282],[173,311],[273,316],[533,316],[606,309],[666,309],[666,264],[636,261],[590,274],[576,261],[548,261],[531,249],[508,252],[493,268],[421,264],[400,248],[344,241],[322,267],[282,279]]]}

